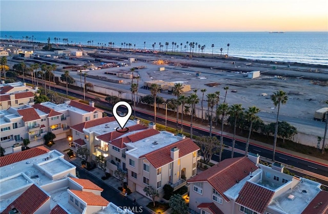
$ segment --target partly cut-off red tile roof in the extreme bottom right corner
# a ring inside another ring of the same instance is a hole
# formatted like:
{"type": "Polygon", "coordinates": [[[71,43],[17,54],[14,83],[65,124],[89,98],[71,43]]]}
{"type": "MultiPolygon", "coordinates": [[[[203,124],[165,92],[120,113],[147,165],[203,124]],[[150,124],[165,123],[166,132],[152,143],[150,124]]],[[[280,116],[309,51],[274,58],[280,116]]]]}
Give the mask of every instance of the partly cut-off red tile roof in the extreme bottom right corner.
{"type": "Polygon", "coordinates": [[[328,192],[320,191],[310,204],[306,206],[302,214],[328,214],[328,192]]]}

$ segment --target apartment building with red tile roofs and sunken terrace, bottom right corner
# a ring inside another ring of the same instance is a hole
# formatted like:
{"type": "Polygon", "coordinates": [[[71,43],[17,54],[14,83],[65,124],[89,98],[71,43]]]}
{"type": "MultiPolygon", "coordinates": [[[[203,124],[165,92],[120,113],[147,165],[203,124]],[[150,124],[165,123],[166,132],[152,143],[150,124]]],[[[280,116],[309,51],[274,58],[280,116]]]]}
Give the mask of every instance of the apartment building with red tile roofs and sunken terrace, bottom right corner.
{"type": "Polygon", "coordinates": [[[259,164],[252,153],[223,160],[188,182],[189,207],[201,214],[328,211],[328,192],[320,183],[284,174],[278,163],[259,164]]]}

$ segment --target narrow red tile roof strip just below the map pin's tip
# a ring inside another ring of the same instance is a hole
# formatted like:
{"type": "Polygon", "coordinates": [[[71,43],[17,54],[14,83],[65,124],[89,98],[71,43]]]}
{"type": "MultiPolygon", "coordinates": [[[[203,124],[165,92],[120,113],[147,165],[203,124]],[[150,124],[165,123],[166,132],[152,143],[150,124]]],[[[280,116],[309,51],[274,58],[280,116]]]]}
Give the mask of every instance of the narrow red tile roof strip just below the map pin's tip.
{"type": "Polygon", "coordinates": [[[126,137],[123,137],[123,138],[115,139],[112,142],[110,142],[110,144],[114,145],[118,148],[125,148],[126,145],[124,143],[136,142],[136,141],[139,141],[139,140],[142,140],[142,139],[145,139],[147,137],[157,135],[157,134],[159,134],[159,132],[157,130],[146,129],[144,131],[134,133],[132,135],[129,135],[129,136],[126,136],[126,137]]]}

